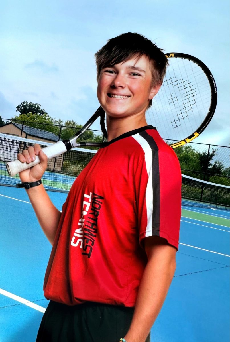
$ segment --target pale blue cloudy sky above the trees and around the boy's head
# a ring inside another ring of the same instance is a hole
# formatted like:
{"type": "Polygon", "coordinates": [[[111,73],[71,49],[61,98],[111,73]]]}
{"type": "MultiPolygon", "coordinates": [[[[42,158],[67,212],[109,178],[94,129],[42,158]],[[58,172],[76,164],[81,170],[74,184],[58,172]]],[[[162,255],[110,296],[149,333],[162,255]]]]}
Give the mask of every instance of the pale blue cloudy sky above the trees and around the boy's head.
{"type": "Polygon", "coordinates": [[[4,1],[0,115],[11,118],[17,105],[31,101],[53,118],[84,124],[99,107],[94,53],[110,38],[138,32],[165,52],[196,56],[212,71],[217,108],[195,141],[228,146],[229,13],[228,0],[4,1]]]}

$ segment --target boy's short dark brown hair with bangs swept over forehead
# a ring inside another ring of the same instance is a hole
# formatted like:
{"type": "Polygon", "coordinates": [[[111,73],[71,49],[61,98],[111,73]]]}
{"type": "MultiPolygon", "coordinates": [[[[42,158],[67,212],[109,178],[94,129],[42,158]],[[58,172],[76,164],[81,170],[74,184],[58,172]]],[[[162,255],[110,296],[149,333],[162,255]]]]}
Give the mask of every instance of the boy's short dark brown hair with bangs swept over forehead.
{"type": "Polygon", "coordinates": [[[145,55],[149,58],[153,83],[163,82],[168,64],[165,54],[151,40],[137,33],[125,33],[109,39],[96,54],[97,77],[106,66],[113,66],[137,56],[145,55]]]}

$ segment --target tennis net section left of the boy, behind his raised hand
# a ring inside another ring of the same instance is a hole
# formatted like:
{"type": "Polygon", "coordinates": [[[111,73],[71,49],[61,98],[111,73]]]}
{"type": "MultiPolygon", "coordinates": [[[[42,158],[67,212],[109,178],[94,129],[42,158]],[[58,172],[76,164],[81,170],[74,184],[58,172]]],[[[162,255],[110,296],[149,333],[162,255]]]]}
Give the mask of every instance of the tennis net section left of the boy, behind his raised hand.
{"type": "MultiPolygon", "coordinates": [[[[44,141],[25,139],[0,133],[0,185],[16,186],[20,183],[18,174],[11,177],[5,163],[17,159],[17,154],[29,146],[39,144],[41,148],[52,145],[44,141]]],[[[68,192],[75,178],[84,169],[97,151],[73,148],[65,154],[48,160],[48,167],[42,176],[47,190],[68,192]]]]}

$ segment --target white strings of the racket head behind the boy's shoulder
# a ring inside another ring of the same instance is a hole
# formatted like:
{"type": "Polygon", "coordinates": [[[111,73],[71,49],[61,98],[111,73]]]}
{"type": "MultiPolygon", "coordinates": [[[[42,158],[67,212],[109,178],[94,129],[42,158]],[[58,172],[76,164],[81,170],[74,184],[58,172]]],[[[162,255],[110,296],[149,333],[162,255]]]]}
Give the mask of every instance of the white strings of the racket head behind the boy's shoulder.
{"type": "Polygon", "coordinates": [[[211,102],[208,78],[199,65],[170,58],[162,87],[146,113],[165,139],[183,140],[204,121],[211,102]]]}

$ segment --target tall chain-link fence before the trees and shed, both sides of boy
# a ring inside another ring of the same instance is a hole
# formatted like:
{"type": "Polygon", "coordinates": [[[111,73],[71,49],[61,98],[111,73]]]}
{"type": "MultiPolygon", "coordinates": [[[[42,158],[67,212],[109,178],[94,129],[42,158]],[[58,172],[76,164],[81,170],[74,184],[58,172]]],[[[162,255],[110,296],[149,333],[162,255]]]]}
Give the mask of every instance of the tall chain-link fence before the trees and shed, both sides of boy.
{"type": "MultiPolygon", "coordinates": [[[[0,132],[39,141],[55,142],[73,136],[78,128],[39,122],[7,120],[0,132]]],[[[80,141],[102,143],[103,133],[88,129],[80,141]]],[[[167,141],[173,143],[173,141],[167,141]]],[[[97,149],[97,147],[89,147],[97,149]]],[[[191,142],[175,149],[183,174],[212,183],[230,185],[229,146],[219,146],[191,142]]]]}

